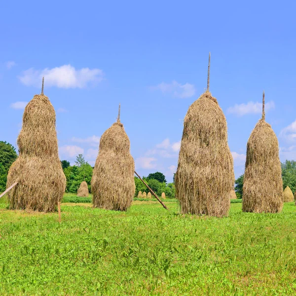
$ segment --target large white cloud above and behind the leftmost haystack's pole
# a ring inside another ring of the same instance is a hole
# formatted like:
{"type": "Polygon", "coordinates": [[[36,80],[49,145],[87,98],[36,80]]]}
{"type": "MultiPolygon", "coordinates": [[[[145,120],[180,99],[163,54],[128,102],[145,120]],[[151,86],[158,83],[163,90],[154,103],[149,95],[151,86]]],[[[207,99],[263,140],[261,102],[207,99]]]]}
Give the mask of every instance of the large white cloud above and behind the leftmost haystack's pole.
{"type": "Polygon", "coordinates": [[[59,88],[85,88],[90,82],[100,82],[103,79],[103,71],[100,69],[75,69],[71,65],[64,65],[52,69],[35,70],[28,69],[19,76],[20,81],[27,86],[41,86],[44,76],[46,87],[59,88]]]}

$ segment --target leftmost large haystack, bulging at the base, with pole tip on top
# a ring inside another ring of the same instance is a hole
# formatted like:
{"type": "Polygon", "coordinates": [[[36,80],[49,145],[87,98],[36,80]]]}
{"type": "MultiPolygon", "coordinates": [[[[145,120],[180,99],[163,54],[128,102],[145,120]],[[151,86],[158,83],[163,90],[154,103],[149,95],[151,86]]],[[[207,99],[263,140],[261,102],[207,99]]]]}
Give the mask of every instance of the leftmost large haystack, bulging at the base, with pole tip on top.
{"type": "Polygon", "coordinates": [[[23,115],[23,125],[17,139],[19,157],[11,165],[8,192],[11,209],[52,212],[63,197],[66,188],[58,154],[56,115],[48,97],[35,95],[23,115]]]}

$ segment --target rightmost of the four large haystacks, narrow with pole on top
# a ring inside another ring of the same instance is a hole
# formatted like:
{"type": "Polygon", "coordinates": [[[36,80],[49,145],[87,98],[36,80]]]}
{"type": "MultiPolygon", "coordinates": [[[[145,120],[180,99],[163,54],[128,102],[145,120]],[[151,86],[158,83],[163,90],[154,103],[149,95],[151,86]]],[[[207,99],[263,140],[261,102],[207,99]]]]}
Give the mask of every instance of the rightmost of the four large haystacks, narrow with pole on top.
{"type": "Polygon", "coordinates": [[[282,208],[283,181],[279,144],[271,126],[265,122],[263,92],[262,118],[247,143],[242,210],[278,213],[282,208]]]}

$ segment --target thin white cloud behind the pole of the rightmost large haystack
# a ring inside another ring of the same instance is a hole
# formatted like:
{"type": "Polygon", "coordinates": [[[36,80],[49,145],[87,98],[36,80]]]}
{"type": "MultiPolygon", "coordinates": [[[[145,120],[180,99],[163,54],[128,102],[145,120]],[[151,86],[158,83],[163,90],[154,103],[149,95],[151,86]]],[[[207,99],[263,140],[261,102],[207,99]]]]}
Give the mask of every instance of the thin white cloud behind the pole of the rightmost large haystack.
{"type": "MultiPolygon", "coordinates": [[[[265,112],[274,109],[275,105],[273,101],[265,103],[265,112]]],[[[262,113],[262,103],[248,102],[247,104],[235,104],[233,107],[227,109],[228,113],[233,113],[236,116],[243,116],[246,114],[260,114],[262,113]]]]}

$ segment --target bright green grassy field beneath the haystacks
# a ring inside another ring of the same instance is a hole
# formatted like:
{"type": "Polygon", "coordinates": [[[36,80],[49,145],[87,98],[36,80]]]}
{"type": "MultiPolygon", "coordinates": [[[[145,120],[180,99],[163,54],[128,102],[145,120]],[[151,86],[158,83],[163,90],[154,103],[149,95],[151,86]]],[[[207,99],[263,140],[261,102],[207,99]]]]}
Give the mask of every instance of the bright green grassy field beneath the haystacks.
{"type": "Polygon", "coordinates": [[[0,295],[296,295],[294,203],[259,215],[232,203],[223,219],[166,204],[63,203],[59,224],[1,203],[0,295]]]}

